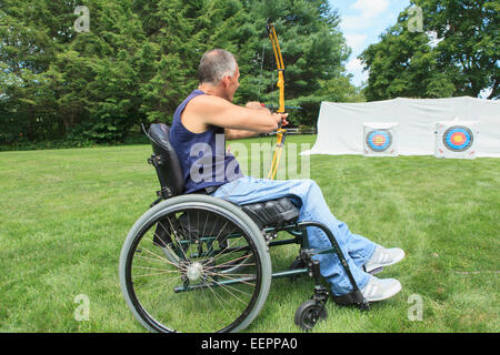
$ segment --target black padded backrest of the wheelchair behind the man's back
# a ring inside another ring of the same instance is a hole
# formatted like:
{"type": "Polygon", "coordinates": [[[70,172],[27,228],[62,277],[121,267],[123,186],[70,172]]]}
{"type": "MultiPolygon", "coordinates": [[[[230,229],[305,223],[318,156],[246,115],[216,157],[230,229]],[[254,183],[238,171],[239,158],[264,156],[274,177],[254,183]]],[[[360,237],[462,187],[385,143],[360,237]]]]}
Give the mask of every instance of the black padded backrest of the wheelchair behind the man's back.
{"type": "Polygon", "coordinates": [[[182,194],[184,179],[176,150],[170,144],[170,129],[159,123],[151,124],[147,133],[151,141],[153,154],[149,162],[154,165],[164,199],[182,194]]]}

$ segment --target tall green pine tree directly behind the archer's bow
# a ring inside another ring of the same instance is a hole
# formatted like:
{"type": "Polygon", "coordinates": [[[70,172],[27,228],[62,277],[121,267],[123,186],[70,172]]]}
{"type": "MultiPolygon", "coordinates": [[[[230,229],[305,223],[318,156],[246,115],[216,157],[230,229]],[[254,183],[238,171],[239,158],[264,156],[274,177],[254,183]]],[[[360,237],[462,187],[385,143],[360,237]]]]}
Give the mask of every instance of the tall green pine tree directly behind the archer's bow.
{"type": "Polygon", "coordinates": [[[303,108],[292,112],[290,122],[316,124],[321,101],[332,100],[324,83],[342,77],[343,63],[350,54],[339,30],[338,12],[326,0],[254,0],[247,1],[246,11],[253,19],[252,28],[243,27],[240,40],[244,43],[241,50],[247,51],[246,61],[251,64],[247,67],[249,72],[244,72],[249,79],[242,74],[241,87],[248,90],[241,90],[240,102],[254,101],[256,97],[267,103],[278,102],[274,54],[264,27],[267,19],[271,19],[283,54],[287,103],[303,108]]]}

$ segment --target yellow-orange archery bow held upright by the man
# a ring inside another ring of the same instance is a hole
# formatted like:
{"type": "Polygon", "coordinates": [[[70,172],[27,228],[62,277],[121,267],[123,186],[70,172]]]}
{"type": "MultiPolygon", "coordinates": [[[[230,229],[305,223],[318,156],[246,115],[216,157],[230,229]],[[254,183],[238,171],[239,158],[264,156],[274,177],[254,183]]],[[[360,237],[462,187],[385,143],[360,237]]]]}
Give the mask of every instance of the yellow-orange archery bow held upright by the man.
{"type": "MultiPolygon", "coordinates": [[[[266,26],[268,30],[269,39],[272,43],[272,50],[274,51],[276,63],[278,67],[278,83],[277,87],[280,90],[280,104],[277,110],[277,113],[284,113],[284,63],[283,57],[281,55],[280,42],[278,40],[278,36],[276,34],[274,24],[268,19],[268,23],[266,26]]],[[[271,169],[269,170],[268,179],[274,180],[276,173],[278,171],[278,166],[281,160],[281,153],[284,148],[284,139],[287,136],[287,130],[282,128],[282,122],[278,126],[277,133],[277,143],[274,154],[272,156],[271,169]]]]}

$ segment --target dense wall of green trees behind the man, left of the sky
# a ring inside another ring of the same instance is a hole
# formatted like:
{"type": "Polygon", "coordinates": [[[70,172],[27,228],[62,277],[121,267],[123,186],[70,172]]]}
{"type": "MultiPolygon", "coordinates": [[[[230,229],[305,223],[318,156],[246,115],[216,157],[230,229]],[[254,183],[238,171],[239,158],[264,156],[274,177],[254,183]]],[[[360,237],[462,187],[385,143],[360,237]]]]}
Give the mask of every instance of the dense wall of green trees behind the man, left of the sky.
{"type": "Polygon", "coordinates": [[[236,103],[276,103],[268,18],[282,45],[287,102],[304,108],[291,121],[314,124],[322,100],[352,89],[343,75],[349,50],[328,0],[4,0],[0,143],[21,134],[121,142],[140,123],[170,123],[213,48],[240,64],[236,103]],[[77,6],[89,10],[88,31],[74,26],[77,6]]]}

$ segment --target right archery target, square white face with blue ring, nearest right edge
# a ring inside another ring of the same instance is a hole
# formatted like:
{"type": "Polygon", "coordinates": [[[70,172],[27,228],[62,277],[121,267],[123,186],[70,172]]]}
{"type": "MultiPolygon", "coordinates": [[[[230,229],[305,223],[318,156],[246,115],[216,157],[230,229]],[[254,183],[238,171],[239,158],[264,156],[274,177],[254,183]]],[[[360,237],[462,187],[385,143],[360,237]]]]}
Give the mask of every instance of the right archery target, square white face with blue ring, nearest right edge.
{"type": "Polygon", "coordinates": [[[478,122],[438,122],[436,124],[436,158],[476,159],[478,122]]]}

